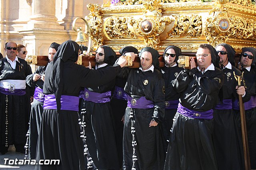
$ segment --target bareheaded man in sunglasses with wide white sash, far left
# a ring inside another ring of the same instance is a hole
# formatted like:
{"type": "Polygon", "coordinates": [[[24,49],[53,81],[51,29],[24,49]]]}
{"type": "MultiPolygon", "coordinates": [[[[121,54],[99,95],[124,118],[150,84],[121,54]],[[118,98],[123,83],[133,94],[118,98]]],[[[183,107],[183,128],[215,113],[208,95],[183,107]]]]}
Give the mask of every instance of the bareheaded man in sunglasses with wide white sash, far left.
{"type": "Polygon", "coordinates": [[[9,145],[25,153],[30,101],[26,97],[26,76],[31,74],[28,63],[16,57],[17,44],[7,42],[6,57],[0,59],[0,153],[9,145]]]}

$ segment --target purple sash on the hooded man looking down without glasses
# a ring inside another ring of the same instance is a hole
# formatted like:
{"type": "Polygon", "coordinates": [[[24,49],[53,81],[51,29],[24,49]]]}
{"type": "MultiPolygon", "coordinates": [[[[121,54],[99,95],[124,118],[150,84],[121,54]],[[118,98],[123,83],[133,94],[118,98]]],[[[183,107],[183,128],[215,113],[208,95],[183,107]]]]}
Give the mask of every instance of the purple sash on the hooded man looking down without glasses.
{"type": "Polygon", "coordinates": [[[139,99],[133,99],[128,96],[128,107],[134,109],[149,109],[155,106],[154,102],[151,100],[147,100],[144,96],[140,97],[139,99]]]}

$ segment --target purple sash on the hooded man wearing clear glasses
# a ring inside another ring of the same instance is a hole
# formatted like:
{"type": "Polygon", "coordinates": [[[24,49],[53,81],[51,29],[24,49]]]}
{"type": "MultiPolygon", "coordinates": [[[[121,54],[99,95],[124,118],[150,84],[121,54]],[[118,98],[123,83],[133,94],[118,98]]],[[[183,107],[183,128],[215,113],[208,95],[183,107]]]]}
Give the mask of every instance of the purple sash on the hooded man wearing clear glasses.
{"type": "Polygon", "coordinates": [[[212,119],[213,118],[213,109],[203,111],[203,112],[194,111],[186,107],[183,107],[180,103],[178,104],[177,112],[186,117],[191,117],[194,119],[212,119]]]}

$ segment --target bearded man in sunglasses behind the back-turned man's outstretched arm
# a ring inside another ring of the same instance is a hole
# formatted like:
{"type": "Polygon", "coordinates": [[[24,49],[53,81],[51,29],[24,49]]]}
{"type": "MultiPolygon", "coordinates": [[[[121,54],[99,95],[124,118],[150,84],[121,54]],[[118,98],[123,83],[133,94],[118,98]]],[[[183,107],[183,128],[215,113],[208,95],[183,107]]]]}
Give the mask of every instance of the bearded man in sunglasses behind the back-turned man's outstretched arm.
{"type": "MultiPolygon", "coordinates": [[[[96,70],[111,67],[116,53],[107,45],[96,51],[96,70]]],[[[113,113],[110,107],[111,90],[115,78],[101,86],[84,88],[85,135],[89,153],[95,166],[100,170],[119,170],[118,154],[114,135],[113,113]]]]}

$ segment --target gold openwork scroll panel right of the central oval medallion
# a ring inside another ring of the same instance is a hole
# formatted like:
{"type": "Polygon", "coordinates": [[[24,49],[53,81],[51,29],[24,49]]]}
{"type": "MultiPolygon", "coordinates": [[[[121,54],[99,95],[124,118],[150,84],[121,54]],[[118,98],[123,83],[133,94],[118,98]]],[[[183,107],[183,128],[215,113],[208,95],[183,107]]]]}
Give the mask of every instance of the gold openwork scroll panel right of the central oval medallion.
{"type": "Polygon", "coordinates": [[[198,15],[174,16],[176,18],[173,29],[168,32],[167,39],[187,37],[200,38],[202,35],[202,17],[198,15]]]}

